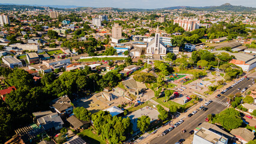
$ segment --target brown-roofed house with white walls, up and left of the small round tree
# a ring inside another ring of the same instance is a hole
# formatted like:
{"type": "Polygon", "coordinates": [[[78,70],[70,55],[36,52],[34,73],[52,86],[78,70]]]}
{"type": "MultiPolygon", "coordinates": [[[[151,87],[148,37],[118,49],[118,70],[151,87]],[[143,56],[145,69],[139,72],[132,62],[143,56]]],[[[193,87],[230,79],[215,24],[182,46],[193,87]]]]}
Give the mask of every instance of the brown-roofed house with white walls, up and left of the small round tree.
{"type": "Polygon", "coordinates": [[[73,106],[67,95],[63,97],[56,98],[50,102],[50,108],[62,115],[70,115],[73,112],[73,106]]]}

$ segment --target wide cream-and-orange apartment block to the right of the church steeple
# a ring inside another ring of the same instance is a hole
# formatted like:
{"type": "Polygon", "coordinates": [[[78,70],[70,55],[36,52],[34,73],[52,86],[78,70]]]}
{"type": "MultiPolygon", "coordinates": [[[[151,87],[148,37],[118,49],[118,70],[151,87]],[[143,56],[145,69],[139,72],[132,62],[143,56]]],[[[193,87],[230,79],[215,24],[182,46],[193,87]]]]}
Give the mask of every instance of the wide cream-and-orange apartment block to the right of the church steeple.
{"type": "Polygon", "coordinates": [[[181,19],[175,19],[174,24],[178,23],[179,26],[181,26],[185,31],[194,31],[195,29],[199,28],[200,21],[199,20],[181,20],[181,19]]]}

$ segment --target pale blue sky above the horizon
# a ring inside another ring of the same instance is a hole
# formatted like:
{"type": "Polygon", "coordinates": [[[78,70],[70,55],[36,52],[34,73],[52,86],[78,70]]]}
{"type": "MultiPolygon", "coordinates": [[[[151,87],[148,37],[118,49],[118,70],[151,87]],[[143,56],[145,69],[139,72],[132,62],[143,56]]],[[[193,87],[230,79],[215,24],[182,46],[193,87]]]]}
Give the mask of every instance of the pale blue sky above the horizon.
{"type": "Polygon", "coordinates": [[[114,8],[165,8],[174,6],[204,7],[211,5],[243,5],[256,7],[255,0],[0,0],[0,4],[35,4],[35,5],[76,5],[82,7],[114,8]]]}

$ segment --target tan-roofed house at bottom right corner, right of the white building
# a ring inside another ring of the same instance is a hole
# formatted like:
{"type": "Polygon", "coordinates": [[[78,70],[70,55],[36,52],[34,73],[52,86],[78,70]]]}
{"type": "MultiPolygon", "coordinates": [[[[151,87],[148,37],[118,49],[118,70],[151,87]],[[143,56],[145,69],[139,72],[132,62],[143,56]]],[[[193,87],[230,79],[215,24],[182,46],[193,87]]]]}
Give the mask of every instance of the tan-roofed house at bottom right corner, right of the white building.
{"type": "Polygon", "coordinates": [[[236,138],[242,143],[248,143],[249,141],[254,139],[254,133],[248,130],[247,128],[236,128],[230,131],[231,134],[236,136],[236,138]]]}

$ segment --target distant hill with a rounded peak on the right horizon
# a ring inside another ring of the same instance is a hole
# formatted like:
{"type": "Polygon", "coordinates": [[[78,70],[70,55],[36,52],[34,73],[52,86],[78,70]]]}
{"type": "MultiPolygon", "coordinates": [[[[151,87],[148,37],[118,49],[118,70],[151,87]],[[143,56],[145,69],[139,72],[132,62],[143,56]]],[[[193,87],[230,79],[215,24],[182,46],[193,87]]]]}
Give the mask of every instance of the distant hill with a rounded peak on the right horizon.
{"type": "Polygon", "coordinates": [[[229,3],[220,6],[211,7],[187,7],[187,10],[207,10],[207,11],[256,11],[253,7],[244,7],[242,5],[231,5],[229,3]]]}

